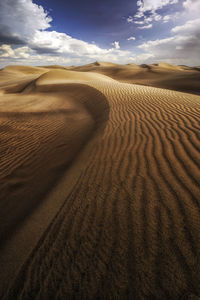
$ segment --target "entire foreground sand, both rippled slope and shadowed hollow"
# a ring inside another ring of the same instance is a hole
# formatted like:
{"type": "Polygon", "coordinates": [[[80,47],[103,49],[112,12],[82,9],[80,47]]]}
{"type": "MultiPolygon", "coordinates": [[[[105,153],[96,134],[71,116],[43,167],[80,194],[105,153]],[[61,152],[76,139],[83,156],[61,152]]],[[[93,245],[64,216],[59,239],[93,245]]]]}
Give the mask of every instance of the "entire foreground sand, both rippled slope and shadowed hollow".
{"type": "Polygon", "coordinates": [[[199,96],[23,72],[1,87],[0,254],[41,224],[9,250],[2,298],[200,297],[199,96]]]}

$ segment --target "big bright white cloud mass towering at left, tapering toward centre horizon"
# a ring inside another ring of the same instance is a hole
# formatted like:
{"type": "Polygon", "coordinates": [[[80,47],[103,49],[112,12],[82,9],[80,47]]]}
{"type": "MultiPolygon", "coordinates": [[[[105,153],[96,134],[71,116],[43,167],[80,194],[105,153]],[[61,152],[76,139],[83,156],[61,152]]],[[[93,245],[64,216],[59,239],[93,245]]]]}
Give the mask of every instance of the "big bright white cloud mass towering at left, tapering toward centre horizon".
{"type": "Polygon", "coordinates": [[[94,60],[129,62],[130,51],[119,42],[103,49],[72,36],[50,31],[52,18],[32,0],[0,2],[0,64],[80,64],[94,60]],[[48,30],[47,30],[48,29],[48,30]]]}

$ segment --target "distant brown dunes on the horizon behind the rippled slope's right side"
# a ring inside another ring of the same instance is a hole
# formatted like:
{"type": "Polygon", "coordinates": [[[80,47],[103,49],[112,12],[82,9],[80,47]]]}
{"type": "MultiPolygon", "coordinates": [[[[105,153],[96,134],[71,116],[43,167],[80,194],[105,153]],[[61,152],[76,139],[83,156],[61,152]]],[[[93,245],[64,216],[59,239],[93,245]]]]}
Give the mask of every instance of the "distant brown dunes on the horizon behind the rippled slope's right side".
{"type": "Polygon", "coordinates": [[[198,67],[175,66],[166,63],[140,66],[133,63],[127,65],[93,63],[74,67],[72,70],[97,72],[120,82],[200,94],[200,69],[198,67]]]}

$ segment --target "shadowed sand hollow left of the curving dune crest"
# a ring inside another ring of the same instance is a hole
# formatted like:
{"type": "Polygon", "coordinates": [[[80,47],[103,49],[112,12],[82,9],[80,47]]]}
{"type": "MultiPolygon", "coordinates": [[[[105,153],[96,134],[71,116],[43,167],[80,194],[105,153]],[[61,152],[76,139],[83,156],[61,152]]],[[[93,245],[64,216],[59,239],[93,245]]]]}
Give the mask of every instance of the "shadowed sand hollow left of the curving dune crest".
{"type": "Polygon", "coordinates": [[[50,93],[33,86],[29,94],[0,97],[1,150],[17,141],[0,155],[1,297],[71,191],[81,164],[72,175],[67,169],[109,114],[106,98],[85,84],[65,84],[63,91],[58,85],[50,93]]]}

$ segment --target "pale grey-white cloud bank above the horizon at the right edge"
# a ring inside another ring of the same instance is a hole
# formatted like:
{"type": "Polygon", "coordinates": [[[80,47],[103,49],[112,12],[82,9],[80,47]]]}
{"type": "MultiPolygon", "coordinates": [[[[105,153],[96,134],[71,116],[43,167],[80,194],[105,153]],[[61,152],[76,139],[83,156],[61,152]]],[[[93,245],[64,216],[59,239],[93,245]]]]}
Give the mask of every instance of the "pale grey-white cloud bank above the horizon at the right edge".
{"type": "Polygon", "coordinates": [[[139,48],[155,57],[156,61],[199,65],[200,18],[175,26],[171,33],[171,37],[147,41],[139,48]]]}

